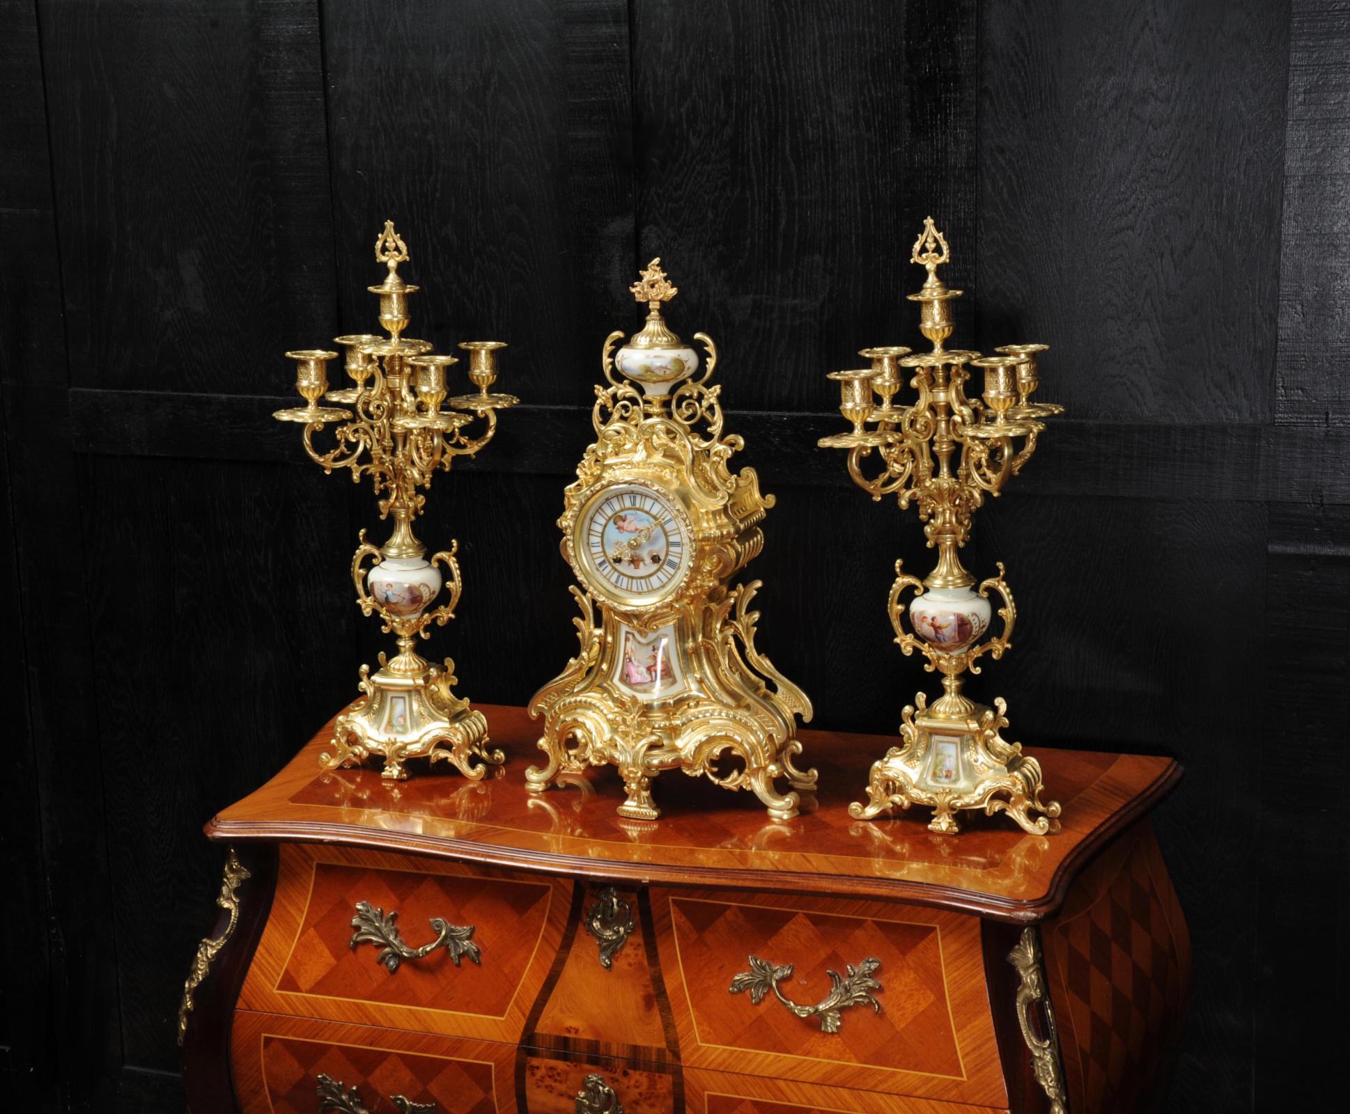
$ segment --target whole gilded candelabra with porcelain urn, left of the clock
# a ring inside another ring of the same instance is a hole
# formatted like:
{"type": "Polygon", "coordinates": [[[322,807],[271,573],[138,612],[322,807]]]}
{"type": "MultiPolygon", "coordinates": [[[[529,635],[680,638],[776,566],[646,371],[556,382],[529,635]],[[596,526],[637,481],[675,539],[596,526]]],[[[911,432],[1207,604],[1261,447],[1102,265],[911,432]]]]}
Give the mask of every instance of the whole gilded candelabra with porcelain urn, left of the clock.
{"type": "Polygon", "coordinates": [[[350,468],[352,483],[370,476],[379,517],[394,521],[383,545],[367,542],[360,531],[351,579],[362,612],[383,619],[382,630],[398,639],[398,653],[387,659],[381,653],[375,673],[369,665],[360,668],[363,695],[338,717],[333,750],[320,755],[320,762],[333,769],[374,754],[383,759],[382,777],[402,780],[406,761],[428,758],[432,763],[448,761],[466,777],[481,778],[487,769],[483,763],[505,761],[500,750],[487,749],[487,720],[455,696],[450,658],[444,666],[429,665],[414,649],[418,637],[431,637],[433,623],[444,626],[455,615],[462,589],[458,542],[428,561],[425,546],[413,534],[413,519],[427,502],[418,488],[431,487],[437,468],[448,472],[456,456],[474,456],[491,441],[497,411],[516,405],[513,395],[490,391],[497,380],[497,351],[506,345],[495,340],[460,344],[470,353],[468,379],[478,390],[447,399],[446,372],[459,360],[433,355],[429,343],[402,336],[410,320],[408,299],[417,287],[398,274],[398,264],[408,262],[408,245],[393,221],[385,221],[375,240],[375,259],[387,274],[367,289],[379,298],[379,324],[387,336],[336,337],[354,386],[335,391],[328,390],[327,365],[336,352],[288,352],[296,361],[296,390],[305,406],[273,414],[304,426],[305,452],[325,472],[350,468]],[[321,399],[338,406],[321,406],[321,399]],[[482,426],[475,425],[479,421],[482,426]],[[315,433],[328,423],[336,423],[336,444],[319,452],[315,433]],[[443,587],[448,599],[431,607],[443,587]]]}

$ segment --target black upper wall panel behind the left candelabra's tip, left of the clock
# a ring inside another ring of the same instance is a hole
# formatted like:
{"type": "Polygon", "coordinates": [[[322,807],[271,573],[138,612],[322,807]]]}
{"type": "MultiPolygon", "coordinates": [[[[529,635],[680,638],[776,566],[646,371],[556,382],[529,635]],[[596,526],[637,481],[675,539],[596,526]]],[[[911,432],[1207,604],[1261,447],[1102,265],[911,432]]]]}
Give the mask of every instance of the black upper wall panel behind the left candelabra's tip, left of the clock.
{"type": "Polygon", "coordinates": [[[375,324],[393,218],[421,287],[410,336],[505,340],[502,390],[590,398],[608,283],[632,267],[625,24],[613,0],[324,7],[346,330],[375,324]]]}

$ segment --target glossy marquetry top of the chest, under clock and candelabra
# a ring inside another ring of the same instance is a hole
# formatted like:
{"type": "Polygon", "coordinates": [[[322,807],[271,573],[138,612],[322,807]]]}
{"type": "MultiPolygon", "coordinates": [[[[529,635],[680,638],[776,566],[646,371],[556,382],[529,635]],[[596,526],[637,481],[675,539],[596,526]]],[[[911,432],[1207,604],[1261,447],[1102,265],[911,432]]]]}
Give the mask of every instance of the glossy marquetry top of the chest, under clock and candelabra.
{"type": "MultiPolygon", "coordinates": [[[[624,820],[612,767],[578,786],[525,792],[537,723],[522,708],[482,705],[506,766],[474,782],[414,763],[409,780],[319,767],[332,723],[271,781],[207,825],[212,839],[381,847],[491,866],[637,882],[891,897],[1030,921],[1053,913],[1088,859],[1177,782],[1170,758],[1035,750],[1062,829],[1027,835],[1007,817],[961,813],[963,832],[927,831],[929,809],[853,820],[868,766],[894,739],[801,732],[799,765],[821,771],[818,808],[771,820],[749,793],[668,771],[655,781],[662,819],[624,820]]],[[[440,770],[447,769],[440,766],[440,770]]]]}

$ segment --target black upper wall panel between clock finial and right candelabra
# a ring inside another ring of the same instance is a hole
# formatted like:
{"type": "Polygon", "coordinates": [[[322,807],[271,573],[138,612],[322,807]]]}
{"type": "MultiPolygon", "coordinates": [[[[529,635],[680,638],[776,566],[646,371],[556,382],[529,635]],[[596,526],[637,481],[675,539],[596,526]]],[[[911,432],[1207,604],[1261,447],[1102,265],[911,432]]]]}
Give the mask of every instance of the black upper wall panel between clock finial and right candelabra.
{"type": "MultiPolygon", "coordinates": [[[[641,262],[680,290],[671,328],[720,345],[726,405],[825,409],[825,372],[896,343],[907,144],[923,143],[906,73],[899,4],[634,5],[641,262]]],[[[609,294],[636,330],[625,289],[609,294]]]]}

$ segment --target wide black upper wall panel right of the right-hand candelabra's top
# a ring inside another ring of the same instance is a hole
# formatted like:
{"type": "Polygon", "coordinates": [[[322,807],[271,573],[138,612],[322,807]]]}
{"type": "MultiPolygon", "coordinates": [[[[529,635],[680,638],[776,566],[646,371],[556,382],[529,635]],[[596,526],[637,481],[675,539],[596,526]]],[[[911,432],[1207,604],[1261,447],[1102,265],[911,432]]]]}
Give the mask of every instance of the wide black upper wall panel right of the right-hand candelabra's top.
{"type": "Polygon", "coordinates": [[[1268,419],[1287,5],[1014,0],[980,43],[980,345],[1052,345],[1081,418],[1268,419]]]}

